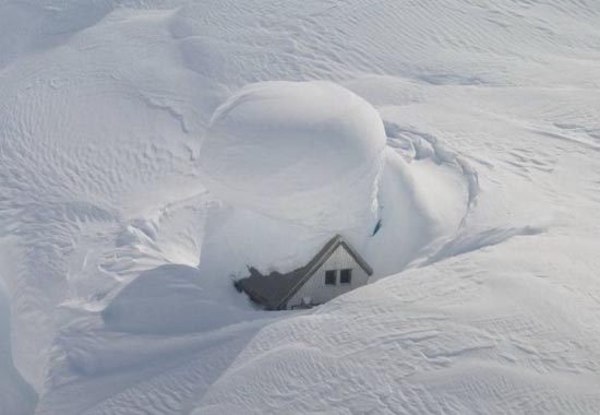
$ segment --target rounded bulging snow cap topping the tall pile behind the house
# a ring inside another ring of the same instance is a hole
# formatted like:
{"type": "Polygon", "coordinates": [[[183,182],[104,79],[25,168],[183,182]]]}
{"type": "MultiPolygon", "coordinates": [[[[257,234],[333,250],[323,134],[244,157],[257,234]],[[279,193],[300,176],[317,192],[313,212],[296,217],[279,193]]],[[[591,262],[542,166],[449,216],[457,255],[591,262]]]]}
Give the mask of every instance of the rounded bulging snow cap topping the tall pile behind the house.
{"type": "Polygon", "coordinates": [[[384,147],[377,111],[352,92],[263,82],[215,111],[199,165],[205,186],[232,206],[305,222],[319,213],[350,226],[372,208],[384,147]]]}

